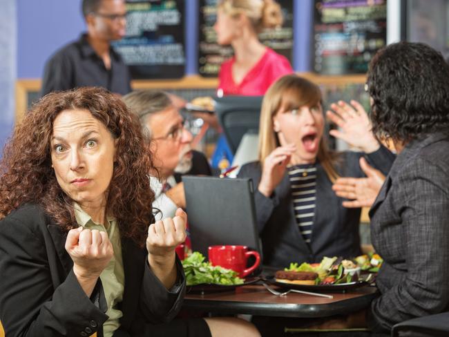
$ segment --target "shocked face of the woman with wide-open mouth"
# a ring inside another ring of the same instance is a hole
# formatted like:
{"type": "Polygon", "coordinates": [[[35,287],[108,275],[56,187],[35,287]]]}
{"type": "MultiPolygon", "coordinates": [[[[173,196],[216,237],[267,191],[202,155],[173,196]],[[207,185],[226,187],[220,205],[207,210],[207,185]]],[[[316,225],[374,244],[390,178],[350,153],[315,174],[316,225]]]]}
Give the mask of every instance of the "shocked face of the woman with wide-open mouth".
{"type": "Polygon", "coordinates": [[[315,162],[324,128],[323,108],[320,103],[310,107],[300,106],[293,110],[281,107],[273,117],[273,124],[281,146],[296,145],[293,158],[296,164],[315,162]]]}

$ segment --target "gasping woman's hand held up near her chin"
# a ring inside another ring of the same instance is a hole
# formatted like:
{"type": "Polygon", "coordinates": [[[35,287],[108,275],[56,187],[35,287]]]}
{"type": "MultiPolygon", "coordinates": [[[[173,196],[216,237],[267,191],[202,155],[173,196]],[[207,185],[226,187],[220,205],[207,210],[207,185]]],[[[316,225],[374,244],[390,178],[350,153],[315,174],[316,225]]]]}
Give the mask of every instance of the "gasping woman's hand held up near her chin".
{"type": "Polygon", "coordinates": [[[279,146],[265,158],[258,190],[267,198],[283,180],[285,169],[295,151],[294,144],[279,146]]]}

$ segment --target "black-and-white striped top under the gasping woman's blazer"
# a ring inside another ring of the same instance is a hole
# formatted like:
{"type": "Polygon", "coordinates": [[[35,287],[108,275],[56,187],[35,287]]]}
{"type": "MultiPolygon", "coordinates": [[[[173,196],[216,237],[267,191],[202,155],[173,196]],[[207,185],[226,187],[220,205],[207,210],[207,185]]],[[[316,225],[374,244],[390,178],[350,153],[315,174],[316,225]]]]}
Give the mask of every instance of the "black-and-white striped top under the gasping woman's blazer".
{"type": "Polygon", "coordinates": [[[305,242],[310,244],[316,204],[316,165],[295,165],[288,171],[296,223],[305,242]]]}

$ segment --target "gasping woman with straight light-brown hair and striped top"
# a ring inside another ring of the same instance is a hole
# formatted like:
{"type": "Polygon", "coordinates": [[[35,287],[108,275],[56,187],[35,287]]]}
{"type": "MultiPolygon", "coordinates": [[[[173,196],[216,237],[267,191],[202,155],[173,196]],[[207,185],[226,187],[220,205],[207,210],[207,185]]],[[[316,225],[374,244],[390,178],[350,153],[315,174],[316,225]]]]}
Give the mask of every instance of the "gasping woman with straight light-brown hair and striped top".
{"type": "MultiPolygon", "coordinates": [[[[361,124],[365,130],[359,129],[361,137],[351,144],[363,152],[329,151],[321,100],[320,88],[307,79],[297,75],[278,79],[262,102],[259,160],[242,166],[238,174],[251,177],[256,187],[263,260],[269,266],[360,255],[361,209],[343,207],[332,182],[340,176],[363,176],[359,159],[364,155],[383,173],[394,161],[369,123],[361,124]]],[[[365,114],[361,107],[346,110],[354,116],[357,111],[365,114]]]]}

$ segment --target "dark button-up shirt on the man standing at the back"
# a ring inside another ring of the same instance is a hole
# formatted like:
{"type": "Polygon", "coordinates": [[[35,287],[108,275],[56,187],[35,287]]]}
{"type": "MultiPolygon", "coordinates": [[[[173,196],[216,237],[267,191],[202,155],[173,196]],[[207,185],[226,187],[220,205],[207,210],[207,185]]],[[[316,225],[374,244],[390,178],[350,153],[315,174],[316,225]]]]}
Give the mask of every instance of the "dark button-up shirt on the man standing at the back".
{"type": "Polygon", "coordinates": [[[113,48],[110,55],[111,69],[106,69],[102,58],[88,43],[87,35],[82,35],[47,61],[41,95],[82,86],[102,86],[113,93],[126,95],[131,91],[128,66],[113,48]]]}

